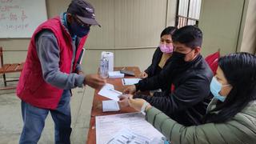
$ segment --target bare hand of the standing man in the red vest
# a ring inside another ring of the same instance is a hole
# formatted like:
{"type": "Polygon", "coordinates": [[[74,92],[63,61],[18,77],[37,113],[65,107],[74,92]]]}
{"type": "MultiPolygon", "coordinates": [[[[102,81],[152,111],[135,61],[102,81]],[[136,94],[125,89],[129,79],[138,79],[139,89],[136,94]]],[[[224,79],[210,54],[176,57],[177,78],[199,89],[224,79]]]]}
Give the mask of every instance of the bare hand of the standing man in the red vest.
{"type": "Polygon", "coordinates": [[[106,84],[106,79],[101,78],[98,74],[87,74],[83,84],[94,89],[101,89],[106,84]]]}

